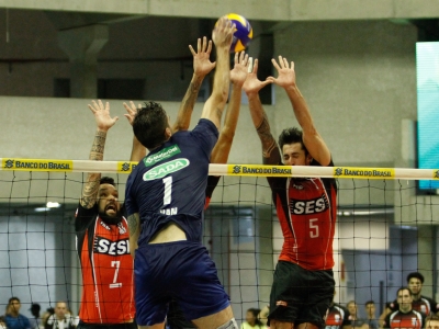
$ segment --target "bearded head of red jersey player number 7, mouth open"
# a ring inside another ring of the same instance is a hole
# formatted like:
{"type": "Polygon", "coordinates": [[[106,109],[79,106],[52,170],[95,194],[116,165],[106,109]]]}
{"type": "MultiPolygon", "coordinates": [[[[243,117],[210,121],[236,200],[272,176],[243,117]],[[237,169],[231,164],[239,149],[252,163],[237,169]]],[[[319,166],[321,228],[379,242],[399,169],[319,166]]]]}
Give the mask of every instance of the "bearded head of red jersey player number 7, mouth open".
{"type": "Polygon", "coordinates": [[[119,192],[114,179],[103,177],[100,180],[98,192],[98,208],[101,218],[119,218],[121,217],[121,204],[119,203],[119,192]]]}

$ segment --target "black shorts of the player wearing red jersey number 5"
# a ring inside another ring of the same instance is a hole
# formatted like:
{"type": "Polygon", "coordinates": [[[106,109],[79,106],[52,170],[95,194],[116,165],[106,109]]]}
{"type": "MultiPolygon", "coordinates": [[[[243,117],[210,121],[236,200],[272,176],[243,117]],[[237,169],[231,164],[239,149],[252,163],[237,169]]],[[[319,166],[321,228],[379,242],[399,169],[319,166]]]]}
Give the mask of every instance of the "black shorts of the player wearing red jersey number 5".
{"type": "Polygon", "coordinates": [[[331,270],[309,271],[291,262],[279,261],[270,294],[270,319],[325,327],[326,310],[334,297],[331,270]]]}

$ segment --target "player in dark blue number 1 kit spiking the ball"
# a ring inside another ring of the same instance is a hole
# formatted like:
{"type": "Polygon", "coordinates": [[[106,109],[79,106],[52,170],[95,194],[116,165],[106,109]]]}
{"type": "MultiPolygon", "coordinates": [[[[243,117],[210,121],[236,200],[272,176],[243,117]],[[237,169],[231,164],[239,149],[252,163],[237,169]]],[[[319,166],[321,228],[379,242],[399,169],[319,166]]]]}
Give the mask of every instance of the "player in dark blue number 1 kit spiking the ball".
{"type": "Polygon", "coordinates": [[[212,36],[214,87],[192,132],[172,134],[169,117],[154,102],[134,118],[134,134],[150,150],[130,175],[125,197],[140,329],[164,328],[171,299],[199,328],[237,328],[201,243],[209,162],[228,97],[232,36],[232,23],[219,19],[212,36]]]}

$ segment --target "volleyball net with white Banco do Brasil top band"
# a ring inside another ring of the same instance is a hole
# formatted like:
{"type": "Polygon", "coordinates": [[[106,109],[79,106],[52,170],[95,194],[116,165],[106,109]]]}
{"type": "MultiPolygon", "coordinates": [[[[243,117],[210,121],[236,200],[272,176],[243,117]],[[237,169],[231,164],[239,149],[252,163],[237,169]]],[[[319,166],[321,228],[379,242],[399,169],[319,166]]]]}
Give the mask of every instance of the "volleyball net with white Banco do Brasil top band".
{"type": "MultiPolygon", "coordinates": [[[[113,177],[122,198],[136,163],[18,158],[0,163],[0,307],[18,296],[30,315],[31,303],[44,310],[67,300],[77,315],[81,273],[74,223],[87,174],[113,177]]],[[[283,243],[266,177],[337,179],[337,303],[356,300],[364,316],[363,305],[374,300],[379,313],[417,271],[426,279],[423,295],[436,298],[438,169],[211,164],[210,174],[223,178],[205,212],[203,243],[239,322],[248,308],[268,304],[283,243]],[[419,180],[431,189],[420,190],[419,180]]]]}

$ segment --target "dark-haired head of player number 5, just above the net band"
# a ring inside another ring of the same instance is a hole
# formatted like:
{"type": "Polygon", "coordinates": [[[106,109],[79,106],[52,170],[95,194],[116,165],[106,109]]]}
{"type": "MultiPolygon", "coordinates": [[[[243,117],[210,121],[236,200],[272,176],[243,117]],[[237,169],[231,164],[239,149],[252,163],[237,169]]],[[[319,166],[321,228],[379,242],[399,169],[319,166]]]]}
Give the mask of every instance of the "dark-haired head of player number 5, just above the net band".
{"type": "Polygon", "coordinates": [[[279,136],[279,147],[282,151],[283,164],[308,166],[313,158],[303,144],[303,133],[297,128],[283,129],[279,136]]]}

